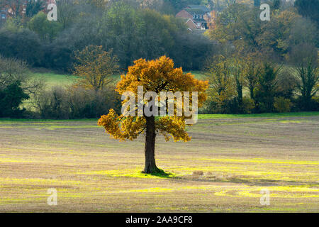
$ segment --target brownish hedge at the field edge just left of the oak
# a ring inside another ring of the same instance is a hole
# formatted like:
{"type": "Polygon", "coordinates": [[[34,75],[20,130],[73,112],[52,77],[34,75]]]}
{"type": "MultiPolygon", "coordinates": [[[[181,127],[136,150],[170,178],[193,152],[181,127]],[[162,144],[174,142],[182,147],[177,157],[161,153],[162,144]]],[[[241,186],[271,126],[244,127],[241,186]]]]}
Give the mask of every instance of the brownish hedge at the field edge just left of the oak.
{"type": "Polygon", "coordinates": [[[121,96],[113,88],[96,92],[82,87],[53,87],[36,96],[33,106],[41,118],[99,118],[111,108],[119,111],[121,96]]]}

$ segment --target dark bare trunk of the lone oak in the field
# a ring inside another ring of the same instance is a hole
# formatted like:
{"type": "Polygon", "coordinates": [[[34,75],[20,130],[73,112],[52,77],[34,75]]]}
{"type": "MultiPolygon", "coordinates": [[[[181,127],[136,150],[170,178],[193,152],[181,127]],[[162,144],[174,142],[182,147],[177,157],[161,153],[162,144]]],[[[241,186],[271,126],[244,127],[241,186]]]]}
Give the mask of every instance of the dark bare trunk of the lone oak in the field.
{"type": "Polygon", "coordinates": [[[155,164],[155,117],[146,118],[146,137],[145,137],[145,173],[160,172],[155,164]]]}

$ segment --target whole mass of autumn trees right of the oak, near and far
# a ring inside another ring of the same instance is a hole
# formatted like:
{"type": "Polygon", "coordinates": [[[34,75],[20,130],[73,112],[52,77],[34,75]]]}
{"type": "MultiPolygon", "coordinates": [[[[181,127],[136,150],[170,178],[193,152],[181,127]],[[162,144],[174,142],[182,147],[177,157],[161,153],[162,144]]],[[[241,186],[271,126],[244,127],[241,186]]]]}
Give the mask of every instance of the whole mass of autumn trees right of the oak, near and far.
{"type": "Polygon", "coordinates": [[[206,33],[223,51],[207,60],[211,102],[204,112],[318,110],[318,21],[311,8],[318,1],[268,1],[270,21],[259,19],[259,3],[230,4],[206,33]]]}

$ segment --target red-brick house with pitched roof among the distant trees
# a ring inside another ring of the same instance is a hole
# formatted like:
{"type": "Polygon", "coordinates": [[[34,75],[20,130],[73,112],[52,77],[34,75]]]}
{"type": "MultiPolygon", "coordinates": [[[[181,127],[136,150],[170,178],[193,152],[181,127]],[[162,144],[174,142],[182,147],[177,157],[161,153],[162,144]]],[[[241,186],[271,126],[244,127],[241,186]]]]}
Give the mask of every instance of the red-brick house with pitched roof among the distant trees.
{"type": "Polygon", "coordinates": [[[176,17],[184,18],[191,31],[208,29],[207,18],[211,17],[210,10],[206,6],[188,5],[176,17]]]}

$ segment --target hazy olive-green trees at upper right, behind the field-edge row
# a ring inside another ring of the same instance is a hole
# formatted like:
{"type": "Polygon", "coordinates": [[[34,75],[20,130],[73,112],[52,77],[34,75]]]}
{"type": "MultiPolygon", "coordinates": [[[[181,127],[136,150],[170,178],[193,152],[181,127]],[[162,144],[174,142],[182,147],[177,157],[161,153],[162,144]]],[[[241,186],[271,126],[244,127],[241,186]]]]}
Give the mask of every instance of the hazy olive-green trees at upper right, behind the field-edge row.
{"type": "Polygon", "coordinates": [[[297,11],[294,7],[271,7],[270,21],[261,21],[259,6],[231,4],[218,15],[215,29],[207,35],[211,40],[231,45],[240,55],[258,53],[260,59],[284,62],[297,45],[319,46],[315,22],[297,11]]]}

